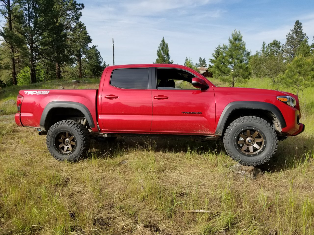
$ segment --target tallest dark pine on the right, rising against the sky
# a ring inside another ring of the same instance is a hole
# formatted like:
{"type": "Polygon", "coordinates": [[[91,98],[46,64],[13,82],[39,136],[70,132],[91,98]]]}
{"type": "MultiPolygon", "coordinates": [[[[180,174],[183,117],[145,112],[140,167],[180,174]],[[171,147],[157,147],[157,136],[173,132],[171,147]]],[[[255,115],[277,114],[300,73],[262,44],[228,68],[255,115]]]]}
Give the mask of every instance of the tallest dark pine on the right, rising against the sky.
{"type": "Polygon", "coordinates": [[[300,44],[304,41],[306,34],[303,33],[302,23],[297,20],[293,29],[287,34],[286,44],[284,44],[284,56],[286,60],[293,60],[300,44]]]}

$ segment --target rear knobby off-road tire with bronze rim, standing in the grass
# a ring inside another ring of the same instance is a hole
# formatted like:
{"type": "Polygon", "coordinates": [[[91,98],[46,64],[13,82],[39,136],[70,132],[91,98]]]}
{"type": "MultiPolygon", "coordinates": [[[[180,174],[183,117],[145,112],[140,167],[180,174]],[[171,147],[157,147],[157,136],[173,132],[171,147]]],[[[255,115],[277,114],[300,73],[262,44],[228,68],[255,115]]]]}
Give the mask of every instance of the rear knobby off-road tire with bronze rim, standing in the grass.
{"type": "Polygon", "coordinates": [[[81,123],[74,120],[63,120],[53,124],[51,128],[49,128],[46,144],[50,154],[55,159],[59,161],[77,161],[83,158],[89,150],[90,138],[88,130],[81,123]],[[69,144],[72,150],[67,151],[70,147],[66,149],[64,148],[65,145],[61,148],[58,146],[58,144],[61,143],[58,142],[58,139],[63,139],[62,136],[71,136],[70,138],[73,136],[70,140],[70,143],[73,144],[69,144]]]}

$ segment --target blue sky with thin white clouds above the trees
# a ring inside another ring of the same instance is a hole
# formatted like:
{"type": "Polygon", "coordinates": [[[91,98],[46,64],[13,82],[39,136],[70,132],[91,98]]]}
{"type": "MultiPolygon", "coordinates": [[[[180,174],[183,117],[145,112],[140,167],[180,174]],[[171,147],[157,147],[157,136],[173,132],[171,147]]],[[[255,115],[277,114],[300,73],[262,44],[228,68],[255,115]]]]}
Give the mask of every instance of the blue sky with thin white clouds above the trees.
{"type": "Polygon", "coordinates": [[[232,31],[243,34],[252,54],[286,35],[296,20],[312,43],[314,4],[311,0],[78,0],[84,3],[81,21],[104,61],[113,64],[152,63],[164,37],[174,63],[186,57],[208,59],[218,44],[226,44],[232,31]]]}

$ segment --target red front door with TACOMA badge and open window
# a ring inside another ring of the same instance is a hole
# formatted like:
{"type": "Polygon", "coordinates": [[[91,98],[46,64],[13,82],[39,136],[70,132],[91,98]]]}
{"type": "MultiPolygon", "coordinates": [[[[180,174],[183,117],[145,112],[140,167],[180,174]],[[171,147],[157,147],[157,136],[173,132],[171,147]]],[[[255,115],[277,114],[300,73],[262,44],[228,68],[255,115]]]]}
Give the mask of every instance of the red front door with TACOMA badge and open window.
{"type": "Polygon", "coordinates": [[[215,97],[212,86],[205,91],[193,87],[192,78],[197,75],[183,69],[153,68],[152,74],[153,132],[213,133],[215,97]]]}

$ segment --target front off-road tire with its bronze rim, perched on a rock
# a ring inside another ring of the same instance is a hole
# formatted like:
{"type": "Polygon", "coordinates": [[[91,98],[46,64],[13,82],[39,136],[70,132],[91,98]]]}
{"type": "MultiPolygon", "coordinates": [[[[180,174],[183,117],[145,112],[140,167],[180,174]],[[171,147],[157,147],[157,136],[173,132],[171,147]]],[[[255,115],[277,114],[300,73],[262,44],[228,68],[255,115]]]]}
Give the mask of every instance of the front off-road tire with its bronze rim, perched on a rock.
{"type": "Polygon", "coordinates": [[[229,156],[246,166],[258,166],[268,162],[278,146],[277,134],[272,125],[255,116],[237,118],[230,123],[223,141],[229,156]],[[247,132],[248,130],[249,132],[247,132]],[[255,143],[257,148],[251,147],[255,143]]]}

